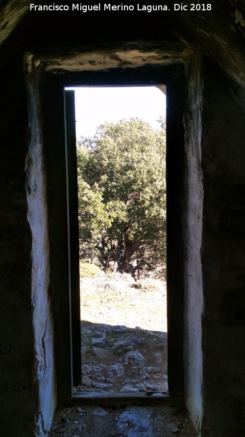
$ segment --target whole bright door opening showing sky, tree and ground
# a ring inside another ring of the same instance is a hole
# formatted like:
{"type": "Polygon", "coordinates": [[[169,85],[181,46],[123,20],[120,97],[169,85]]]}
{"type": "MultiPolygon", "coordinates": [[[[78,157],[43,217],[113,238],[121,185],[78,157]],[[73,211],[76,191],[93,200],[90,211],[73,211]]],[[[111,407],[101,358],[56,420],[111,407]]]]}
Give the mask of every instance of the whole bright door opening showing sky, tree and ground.
{"type": "Polygon", "coordinates": [[[74,90],[82,353],[74,393],[167,393],[166,87],[74,90]]]}

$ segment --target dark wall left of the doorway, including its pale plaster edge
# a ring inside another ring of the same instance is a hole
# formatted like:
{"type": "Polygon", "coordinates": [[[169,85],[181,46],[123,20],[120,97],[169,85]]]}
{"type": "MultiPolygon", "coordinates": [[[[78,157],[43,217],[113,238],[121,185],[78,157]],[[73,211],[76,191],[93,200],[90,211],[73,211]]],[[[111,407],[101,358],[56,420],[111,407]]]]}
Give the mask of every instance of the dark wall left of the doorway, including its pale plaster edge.
{"type": "Polygon", "coordinates": [[[45,436],[56,397],[39,104],[30,82],[27,99],[24,54],[8,57],[0,62],[0,435],[45,436]]]}

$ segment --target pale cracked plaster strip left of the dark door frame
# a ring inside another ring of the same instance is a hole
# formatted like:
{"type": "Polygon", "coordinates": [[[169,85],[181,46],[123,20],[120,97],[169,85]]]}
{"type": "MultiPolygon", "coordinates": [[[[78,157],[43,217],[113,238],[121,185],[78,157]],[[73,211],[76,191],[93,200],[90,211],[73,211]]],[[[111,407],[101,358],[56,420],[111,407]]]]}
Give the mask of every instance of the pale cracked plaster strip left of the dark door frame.
{"type": "MultiPolygon", "coordinates": [[[[30,66],[30,65],[29,65],[30,66]]],[[[27,76],[29,150],[26,156],[27,218],[32,233],[31,303],[35,340],[35,436],[46,436],[56,407],[53,321],[50,308],[50,260],[47,189],[39,113],[38,75],[27,76]]]]}

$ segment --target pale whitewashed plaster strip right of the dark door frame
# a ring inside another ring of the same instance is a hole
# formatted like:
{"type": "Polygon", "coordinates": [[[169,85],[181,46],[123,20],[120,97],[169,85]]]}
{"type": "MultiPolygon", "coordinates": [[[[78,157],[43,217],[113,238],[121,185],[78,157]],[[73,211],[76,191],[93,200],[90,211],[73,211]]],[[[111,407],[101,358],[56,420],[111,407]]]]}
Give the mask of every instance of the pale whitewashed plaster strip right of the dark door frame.
{"type": "Polygon", "coordinates": [[[183,186],[184,245],[184,384],[185,402],[199,433],[202,422],[201,314],[203,309],[202,241],[203,187],[201,172],[202,83],[200,57],[189,65],[186,85],[185,179],[183,186]]]}

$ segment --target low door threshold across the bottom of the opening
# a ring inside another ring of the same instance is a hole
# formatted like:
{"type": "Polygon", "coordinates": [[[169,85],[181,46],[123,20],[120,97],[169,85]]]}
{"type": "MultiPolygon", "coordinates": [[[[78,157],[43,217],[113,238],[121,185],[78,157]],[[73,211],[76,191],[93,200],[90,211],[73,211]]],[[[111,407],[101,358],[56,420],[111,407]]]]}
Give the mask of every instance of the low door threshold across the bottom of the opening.
{"type": "Polygon", "coordinates": [[[70,398],[59,398],[59,404],[65,405],[171,405],[184,404],[183,396],[170,396],[163,392],[133,392],[133,393],[81,393],[70,398]]]}

